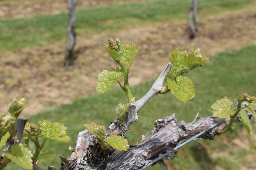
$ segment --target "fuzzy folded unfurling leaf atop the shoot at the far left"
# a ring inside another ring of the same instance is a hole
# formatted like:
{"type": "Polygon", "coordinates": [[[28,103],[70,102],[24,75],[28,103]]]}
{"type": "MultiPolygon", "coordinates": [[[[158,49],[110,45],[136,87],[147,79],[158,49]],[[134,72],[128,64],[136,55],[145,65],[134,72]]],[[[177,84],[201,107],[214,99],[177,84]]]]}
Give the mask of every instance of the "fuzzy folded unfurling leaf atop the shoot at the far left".
{"type": "Polygon", "coordinates": [[[23,109],[29,104],[29,100],[24,99],[21,96],[10,99],[8,112],[14,117],[18,117],[23,109]]]}

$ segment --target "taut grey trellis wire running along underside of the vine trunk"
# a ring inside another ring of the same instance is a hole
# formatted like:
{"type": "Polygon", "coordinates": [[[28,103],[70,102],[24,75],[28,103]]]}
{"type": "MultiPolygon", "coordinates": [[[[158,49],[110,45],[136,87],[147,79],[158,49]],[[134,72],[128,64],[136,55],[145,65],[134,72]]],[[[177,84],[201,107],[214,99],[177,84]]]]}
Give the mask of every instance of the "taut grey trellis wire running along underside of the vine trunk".
{"type": "MultiPolygon", "coordinates": [[[[185,144],[187,144],[187,143],[191,142],[192,140],[196,139],[198,136],[201,136],[202,134],[204,134],[205,132],[207,132],[208,130],[212,129],[213,127],[215,127],[215,126],[219,125],[219,124],[220,124],[220,123],[222,123],[222,122],[224,122],[224,119],[221,119],[220,121],[218,121],[217,123],[215,123],[215,124],[214,124],[214,125],[212,125],[211,127],[208,127],[206,130],[204,130],[204,131],[202,131],[202,132],[198,133],[198,134],[197,134],[197,135],[195,135],[194,137],[190,138],[190,139],[189,139],[189,140],[187,140],[186,142],[183,142],[182,144],[180,144],[180,145],[176,146],[176,147],[175,147],[175,148],[173,148],[173,149],[175,150],[175,149],[178,149],[178,148],[180,148],[180,147],[184,146],[185,144]]],[[[167,152],[167,153],[163,154],[162,156],[158,157],[158,158],[157,158],[157,159],[155,159],[154,161],[151,161],[150,163],[148,163],[148,164],[147,164],[147,165],[145,165],[144,167],[141,167],[141,168],[140,168],[140,169],[138,169],[138,170],[144,170],[146,167],[148,167],[148,166],[150,166],[151,164],[154,164],[155,162],[157,162],[157,161],[161,160],[163,157],[165,157],[165,156],[169,155],[169,153],[172,153],[172,152],[173,152],[173,151],[172,151],[172,150],[170,150],[169,152],[167,152]]]]}

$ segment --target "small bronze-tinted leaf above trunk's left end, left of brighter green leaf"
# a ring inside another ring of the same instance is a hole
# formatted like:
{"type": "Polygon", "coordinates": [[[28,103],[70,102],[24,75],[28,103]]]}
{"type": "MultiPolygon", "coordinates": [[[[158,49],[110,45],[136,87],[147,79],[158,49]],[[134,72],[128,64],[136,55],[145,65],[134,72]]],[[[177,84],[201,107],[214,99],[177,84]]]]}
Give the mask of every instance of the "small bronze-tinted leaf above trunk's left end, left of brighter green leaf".
{"type": "Polygon", "coordinates": [[[84,127],[93,135],[98,136],[102,138],[102,136],[105,136],[106,130],[105,130],[105,124],[104,125],[97,125],[95,122],[90,121],[90,123],[83,124],[84,127]]]}

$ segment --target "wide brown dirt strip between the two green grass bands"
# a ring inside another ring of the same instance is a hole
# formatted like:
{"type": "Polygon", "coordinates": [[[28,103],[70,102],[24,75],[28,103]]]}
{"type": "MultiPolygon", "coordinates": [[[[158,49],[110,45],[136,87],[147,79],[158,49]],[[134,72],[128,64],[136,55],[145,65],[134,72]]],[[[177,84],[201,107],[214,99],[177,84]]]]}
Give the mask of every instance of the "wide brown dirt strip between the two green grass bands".
{"type": "Polygon", "coordinates": [[[30,100],[22,117],[36,111],[71,103],[95,93],[97,74],[115,67],[103,43],[121,37],[124,43],[137,43],[140,49],[130,69],[130,84],[137,85],[160,74],[176,46],[192,51],[201,47],[210,57],[227,50],[256,44],[256,6],[199,19],[199,31],[190,40],[185,22],[157,23],[154,26],[78,37],[76,64],[63,68],[65,42],[23,48],[0,54],[0,113],[6,113],[9,98],[19,95],[30,100]]]}

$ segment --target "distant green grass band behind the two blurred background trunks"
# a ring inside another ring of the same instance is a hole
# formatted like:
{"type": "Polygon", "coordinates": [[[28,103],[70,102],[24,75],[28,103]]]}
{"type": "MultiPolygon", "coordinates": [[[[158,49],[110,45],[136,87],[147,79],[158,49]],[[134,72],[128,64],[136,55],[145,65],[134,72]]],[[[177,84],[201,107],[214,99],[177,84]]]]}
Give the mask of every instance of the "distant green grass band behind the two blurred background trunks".
{"type": "MultiPolygon", "coordinates": [[[[253,0],[202,1],[199,16],[243,8],[253,0]]],[[[77,11],[78,36],[145,26],[159,21],[186,20],[191,0],[156,0],[77,11]]],[[[68,14],[0,20],[0,51],[46,45],[67,39],[68,14]]]]}

